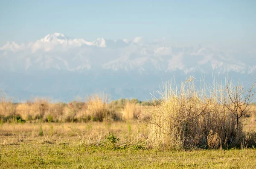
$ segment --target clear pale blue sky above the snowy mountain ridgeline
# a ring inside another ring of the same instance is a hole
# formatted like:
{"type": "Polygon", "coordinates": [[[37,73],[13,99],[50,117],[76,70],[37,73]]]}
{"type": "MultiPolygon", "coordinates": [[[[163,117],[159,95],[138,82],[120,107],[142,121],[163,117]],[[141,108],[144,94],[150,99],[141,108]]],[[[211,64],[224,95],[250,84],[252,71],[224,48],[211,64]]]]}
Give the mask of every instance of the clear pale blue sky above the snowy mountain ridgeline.
{"type": "Polygon", "coordinates": [[[255,0],[1,0],[0,46],[61,32],[94,40],[166,37],[177,45],[240,46],[256,42],[255,0]]]}

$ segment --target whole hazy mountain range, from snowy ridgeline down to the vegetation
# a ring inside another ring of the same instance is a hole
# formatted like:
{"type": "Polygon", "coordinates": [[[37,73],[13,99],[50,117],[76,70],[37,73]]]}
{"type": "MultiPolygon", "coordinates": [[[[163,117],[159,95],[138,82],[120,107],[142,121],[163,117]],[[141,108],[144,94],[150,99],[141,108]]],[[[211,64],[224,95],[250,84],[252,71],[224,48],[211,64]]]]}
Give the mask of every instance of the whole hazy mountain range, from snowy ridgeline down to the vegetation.
{"type": "Polygon", "coordinates": [[[201,45],[177,47],[165,39],[148,42],[143,37],[94,41],[48,34],[27,44],[7,42],[0,47],[0,89],[16,101],[47,96],[70,101],[76,96],[105,92],[111,99],[151,99],[162,81],[175,76],[223,77],[248,82],[256,72],[255,57],[213,50],[201,45]],[[251,59],[241,60],[248,57],[251,59]]]}

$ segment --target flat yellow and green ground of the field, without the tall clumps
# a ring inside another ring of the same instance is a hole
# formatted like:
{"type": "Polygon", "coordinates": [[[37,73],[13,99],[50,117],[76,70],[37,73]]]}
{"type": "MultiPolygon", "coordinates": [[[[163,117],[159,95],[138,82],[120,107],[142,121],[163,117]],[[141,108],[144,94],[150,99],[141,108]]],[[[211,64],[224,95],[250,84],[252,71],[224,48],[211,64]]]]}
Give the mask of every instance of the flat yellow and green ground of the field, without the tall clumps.
{"type": "MultiPolygon", "coordinates": [[[[250,120],[249,120],[250,122],[250,120]]],[[[250,124],[251,127],[255,127],[250,124]]],[[[137,121],[4,123],[0,168],[256,168],[256,149],[145,149],[137,121]],[[113,133],[119,141],[105,138],[113,133]],[[137,144],[137,141],[140,144],[137,144]]]]}

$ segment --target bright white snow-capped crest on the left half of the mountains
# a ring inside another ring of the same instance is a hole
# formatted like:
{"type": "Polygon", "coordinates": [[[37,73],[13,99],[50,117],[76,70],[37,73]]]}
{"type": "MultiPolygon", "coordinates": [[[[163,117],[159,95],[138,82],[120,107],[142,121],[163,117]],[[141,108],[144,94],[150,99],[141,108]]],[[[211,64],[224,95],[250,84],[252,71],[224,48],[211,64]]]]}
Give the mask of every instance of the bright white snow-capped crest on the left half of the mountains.
{"type": "Polygon", "coordinates": [[[93,41],[87,41],[85,39],[72,39],[66,37],[62,33],[53,33],[47,34],[42,39],[36,40],[35,42],[29,42],[28,44],[17,44],[16,42],[7,42],[5,45],[0,47],[0,51],[22,51],[22,50],[30,50],[32,52],[36,51],[63,51],[69,48],[77,48],[83,46],[95,46],[99,48],[124,48],[131,43],[139,43],[141,42],[142,37],[136,37],[133,40],[128,39],[118,39],[118,40],[106,40],[102,37],[97,38],[93,41]]]}

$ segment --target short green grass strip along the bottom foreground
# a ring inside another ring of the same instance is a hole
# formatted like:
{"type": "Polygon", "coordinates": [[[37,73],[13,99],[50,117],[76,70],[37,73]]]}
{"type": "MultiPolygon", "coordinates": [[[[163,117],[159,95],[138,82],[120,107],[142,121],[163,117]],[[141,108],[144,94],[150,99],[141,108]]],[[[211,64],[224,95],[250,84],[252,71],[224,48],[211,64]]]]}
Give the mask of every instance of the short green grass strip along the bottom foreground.
{"type": "Polygon", "coordinates": [[[1,146],[0,168],[256,168],[256,149],[157,151],[42,143],[1,146]]]}

